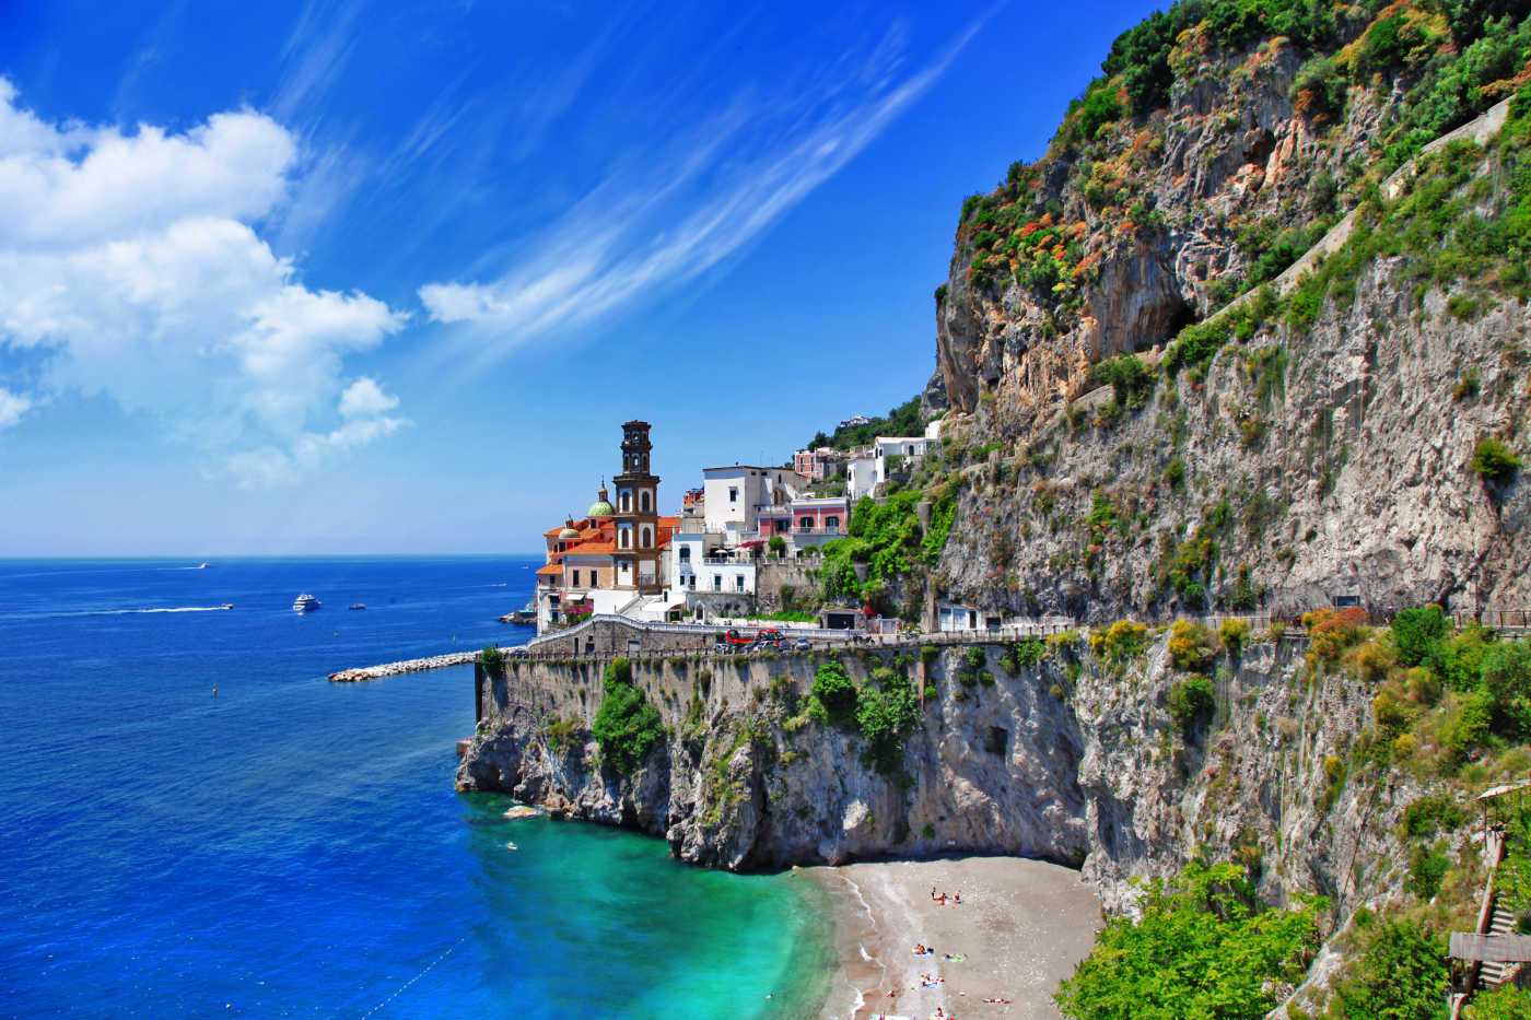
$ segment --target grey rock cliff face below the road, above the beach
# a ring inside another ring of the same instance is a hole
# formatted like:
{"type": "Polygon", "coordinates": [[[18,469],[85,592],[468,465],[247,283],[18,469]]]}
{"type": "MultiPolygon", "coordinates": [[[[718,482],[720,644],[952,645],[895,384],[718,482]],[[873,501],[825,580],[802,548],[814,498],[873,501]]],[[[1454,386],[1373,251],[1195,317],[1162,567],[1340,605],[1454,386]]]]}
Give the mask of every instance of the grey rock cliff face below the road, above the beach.
{"type": "MultiPolygon", "coordinates": [[[[458,786],[634,827],[715,867],[1038,855],[1082,865],[1122,908],[1130,876],[1173,873],[1202,848],[1278,861],[1263,875],[1272,901],[1318,891],[1349,911],[1401,881],[1392,829],[1418,790],[1329,792],[1324,760],[1367,721],[1369,697],[1304,683],[1297,651],[1266,642],[1228,660],[1217,720],[1185,737],[1165,709],[1162,639],[1130,662],[1066,643],[1014,675],[1000,646],[983,669],[948,649],[894,775],[868,766],[856,734],[799,714],[808,657],[635,663],[671,735],[631,776],[603,769],[591,737],[597,666],[521,663],[484,685],[458,786]]],[[[877,668],[922,669],[873,654],[845,666],[863,686],[877,668]]]]}

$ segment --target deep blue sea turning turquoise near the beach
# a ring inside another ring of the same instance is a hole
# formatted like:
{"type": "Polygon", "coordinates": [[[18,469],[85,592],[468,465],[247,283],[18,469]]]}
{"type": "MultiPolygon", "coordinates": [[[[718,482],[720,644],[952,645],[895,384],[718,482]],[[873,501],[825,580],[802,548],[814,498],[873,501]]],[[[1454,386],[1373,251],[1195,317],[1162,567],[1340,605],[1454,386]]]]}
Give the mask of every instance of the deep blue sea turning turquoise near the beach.
{"type": "Polygon", "coordinates": [[[0,1015],[807,1012],[808,879],[453,792],[472,668],[325,680],[525,640],[536,565],[0,561],[0,1015]]]}

